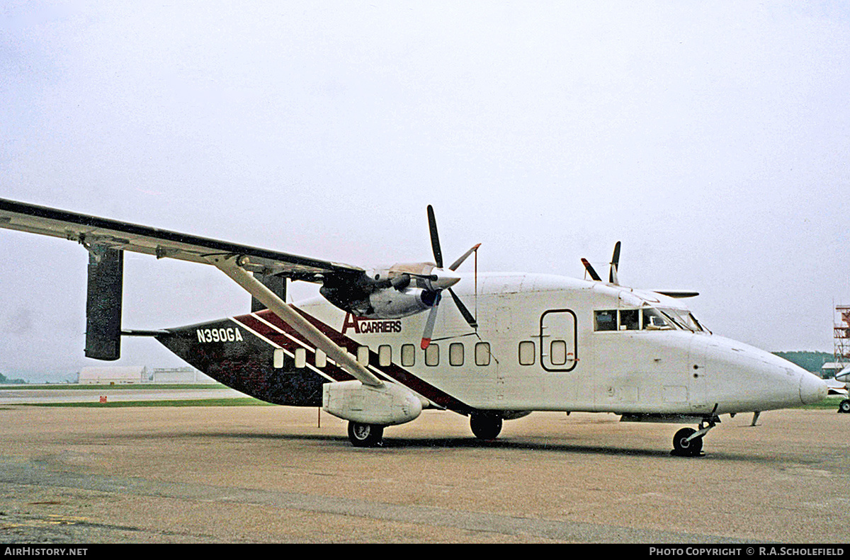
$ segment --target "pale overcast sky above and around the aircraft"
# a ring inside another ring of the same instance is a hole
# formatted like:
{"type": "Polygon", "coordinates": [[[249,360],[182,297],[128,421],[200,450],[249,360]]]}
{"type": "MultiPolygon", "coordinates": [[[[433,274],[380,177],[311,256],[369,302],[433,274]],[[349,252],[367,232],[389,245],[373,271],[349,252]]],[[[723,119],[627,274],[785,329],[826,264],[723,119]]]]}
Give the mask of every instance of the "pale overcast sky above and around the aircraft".
{"type": "MultiPolygon", "coordinates": [[[[716,333],[832,351],[846,3],[0,10],[3,198],[358,265],[429,259],[430,203],[481,270],[581,277],[621,240],[622,283],[700,291],[716,333]]],[[[87,259],[0,231],[0,372],[90,363],[87,259]]],[[[127,328],[248,307],[215,269],[127,255],[127,328]]],[[[130,339],[120,364],[181,362],[130,339]]]]}

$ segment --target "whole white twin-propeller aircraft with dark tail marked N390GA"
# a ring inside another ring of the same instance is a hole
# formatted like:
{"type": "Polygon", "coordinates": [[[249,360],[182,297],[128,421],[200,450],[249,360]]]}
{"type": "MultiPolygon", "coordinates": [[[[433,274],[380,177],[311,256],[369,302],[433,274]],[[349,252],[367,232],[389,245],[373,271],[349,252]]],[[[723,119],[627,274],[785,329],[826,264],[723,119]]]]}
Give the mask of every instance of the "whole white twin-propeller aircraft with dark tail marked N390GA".
{"type": "Polygon", "coordinates": [[[707,331],[680,303],[694,292],[620,286],[619,242],[607,282],[584,259],[592,280],[477,274],[477,264],[460,274],[478,246],[446,267],[430,206],[428,223],[434,263],[367,270],[0,199],[0,227],[88,249],[88,357],[117,359],[122,335],[155,337],[242,393],[322,406],[348,421],[355,446],[381,444],[385,427],[426,408],[469,416],[482,439],[504,420],[563,410],[694,422],[672,453],[700,455],[720,415],[826,396],[808,371],[707,331]],[[252,313],[122,330],[124,251],[215,266],[252,294],[252,313]],[[321,297],[287,304],[286,280],[320,283],[321,297]]]}

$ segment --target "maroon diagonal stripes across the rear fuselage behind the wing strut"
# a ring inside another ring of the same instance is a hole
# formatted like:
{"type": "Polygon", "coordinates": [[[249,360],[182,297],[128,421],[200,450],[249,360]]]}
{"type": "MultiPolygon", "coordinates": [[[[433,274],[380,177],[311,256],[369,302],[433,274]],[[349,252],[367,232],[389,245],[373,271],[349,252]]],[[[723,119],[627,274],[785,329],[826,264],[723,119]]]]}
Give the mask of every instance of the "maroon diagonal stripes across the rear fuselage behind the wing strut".
{"type": "MultiPolygon", "coordinates": [[[[322,331],[326,337],[331,339],[332,342],[342,348],[345,348],[351,354],[356,355],[357,348],[363,346],[362,343],[346,337],[330,325],[326,325],[325,323],[316,319],[312,315],[305,313],[302,309],[299,309],[295,306],[292,306],[292,308],[295,309],[299,314],[301,314],[304,319],[309,320],[309,322],[317,329],[322,331]]],[[[286,334],[290,335],[291,337],[295,337],[298,340],[304,342],[309,348],[313,348],[313,345],[310,342],[308,342],[301,335],[299,335],[294,329],[292,329],[290,325],[286,324],[285,321],[281,320],[280,317],[269,311],[269,309],[263,309],[263,311],[259,311],[257,315],[259,317],[262,317],[263,320],[269,321],[269,323],[271,323],[272,325],[275,325],[276,327],[280,328],[281,331],[285,331],[286,334]]],[[[250,315],[243,315],[243,317],[250,317],[250,315]]],[[[236,317],[236,320],[242,320],[242,317],[236,317]]],[[[256,322],[262,324],[262,321],[256,322]]],[[[269,328],[268,325],[266,325],[266,328],[269,328]]],[[[437,387],[433,387],[433,385],[431,385],[430,383],[425,382],[424,380],[414,376],[413,374],[411,374],[410,371],[401,368],[399,365],[396,365],[394,363],[388,366],[374,365],[377,364],[377,353],[371,351],[370,349],[369,354],[369,363],[372,368],[376,369],[377,371],[380,371],[384,376],[401,383],[405,387],[413,389],[414,391],[416,391],[416,393],[421,394],[423,397],[431,400],[433,403],[439,404],[439,406],[443,406],[450,410],[455,410],[456,412],[460,412],[462,414],[467,414],[468,412],[473,410],[473,408],[468,404],[462,403],[460,400],[452,397],[448,393],[439,390],[439,388],[437,387]]],[[[345,375],[348,376],[348,373],[345,373],[345,375]]],[[[348,378],[351,377],[348,376],[348,378]]],[[[334,377],[334,379],[336,379],[336,377],[334,377]]]]}

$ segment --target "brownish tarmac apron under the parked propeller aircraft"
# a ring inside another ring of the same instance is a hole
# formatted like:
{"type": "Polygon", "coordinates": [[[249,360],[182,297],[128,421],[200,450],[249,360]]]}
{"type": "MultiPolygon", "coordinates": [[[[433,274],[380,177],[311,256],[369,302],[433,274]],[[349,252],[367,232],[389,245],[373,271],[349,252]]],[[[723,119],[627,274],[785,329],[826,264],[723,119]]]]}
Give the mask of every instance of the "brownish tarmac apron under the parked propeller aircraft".
{"type": "Polygon", "coordinates": [[[275,406],[0,406],[4,543],[842,543],[850,415],[682,425],[534,413],[479,442],[425,411],[355,449],[275,406]]]}

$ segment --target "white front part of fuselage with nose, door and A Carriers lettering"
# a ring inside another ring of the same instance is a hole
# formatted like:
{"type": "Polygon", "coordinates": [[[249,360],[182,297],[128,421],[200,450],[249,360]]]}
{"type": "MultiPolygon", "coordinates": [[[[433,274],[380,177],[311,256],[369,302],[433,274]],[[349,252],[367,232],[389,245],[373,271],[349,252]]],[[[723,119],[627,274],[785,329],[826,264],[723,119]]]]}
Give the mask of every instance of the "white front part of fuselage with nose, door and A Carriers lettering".
{"type": "Polygon", "coordinates": [[[481,410],[707,416],[798,406],[826,394],[817,376],[703,330],[679,300],[655,292],[486,274],[477,282],[466,276],[456,293],[476,314],[477,332],[443,303],[426,351],[419,341],[427,314],[358,320],[321,298],[298,307],[481,410]],[[666,325],[650,318],[660,315],[654,309],[666,310],[666,325]],[[615,325],[603,323],[618,316],[615,325]]]}

